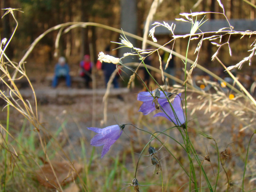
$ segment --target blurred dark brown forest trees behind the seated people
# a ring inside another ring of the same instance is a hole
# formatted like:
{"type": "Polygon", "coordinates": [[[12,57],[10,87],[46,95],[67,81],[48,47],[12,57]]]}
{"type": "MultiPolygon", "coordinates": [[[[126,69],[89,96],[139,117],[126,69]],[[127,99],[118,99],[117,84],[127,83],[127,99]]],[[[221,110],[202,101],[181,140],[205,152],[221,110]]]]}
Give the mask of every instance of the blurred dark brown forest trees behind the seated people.
{"type": "MultiPolygon", "coordinates": [[[[11,45],[6,50],[6,54],[13,61],[19,62],[29,45],[40,34],[47,29],[58,24],[66,22],[95,22],[104,24],[123,31],[143,36],[145,20],[153,0],[1,0],[1,16],[5,13],[4,8],[21,8],[22,12],[14,12],[19,22],[17,32],[14,35],[11,45]],[[124,22],[124,20],[129,22],[124,22]]],[[[255,4],[255,0],[249,0],[255,4]]],[[[249,5],[245,0],[225,0],[222,2],[225,7],[225,13],[228,19],[249,19],[254,20],[256,13],[255,8],[249,5]]],[[[159,0],[159,6],[153,17],[154,21],[168,21],[180,18],[183,12],[221,12],[221,8],[216,0],[159,0]]],[[[225,19],[221,14],[207,14],[205,19],[225,19]]],[[[0,34],[2,38],[9,38],[15,27],[15,21],[11,14],[6,15],[0,20],[0,34]]],[[[149,27],[149,29],[151,26],[149,27]]],[[[71,66],[71,70],[78,70],[78,63],[83,55],[93,50],[94,59],[104,47],[109,45],[110,41],[119,41],[120,34],[112,31],[88,26],[87,28],[74,28],[68,33],[62,34],[59,42],[58,55],[54,56],[55,39],[58,31],[48,33],[32,51],[26,60],[26,70],[28,75],[44,72],[53,72],[53,66],[59,56],[65,56],[71,66]],[[91,46],[90,46],[91,45],[91,46]]],[[[233,56],[222,55],[218,57],[227,65],[233,65],[247,57],[247,50],[253,39],[249,37],[240,41],[240,35],[233,35],[230,40],[233,56]]],[[[164,44],[171,39],[169,34],[156,37],[159,44],[164,44]]],[[[225,38],[223,37],[223,42],[225,38]]],[[[136,46],[141,48],[141,42],[135,41],[136,46]]],[[[117,45],[111,44],[111,48],[117,45]]],[[[175,50],[185,55],[187,40],[178,39],[175,42],[175,50]]],[[[192,42],[190,46],[190,59],[194,59],[194,50],[197,42],[192,42]]],[[[203,66],[218,66],[217,63],[211,62],[211,56],[216,51],[216,47],[211,46],[208,41],[203,43],[201,53],[199,54],[199,63],[203,66]]],[[[223,49],[223,48],[222,48],[223,49]]],[[[224,49],[228,50],[228,46],[224,49]]],[[[119,51],[119,50],[117,50],[119,51]]],[[[225,51],[227,54],[228,51],[225,51]]],[[[114,54],[118,55],[117,52],[114,54]]],[[[177,65],[182,65],[182,61],[176,58],[177,65]]],[[[209,66],[209,67],[210,67],[209,66]]]]}

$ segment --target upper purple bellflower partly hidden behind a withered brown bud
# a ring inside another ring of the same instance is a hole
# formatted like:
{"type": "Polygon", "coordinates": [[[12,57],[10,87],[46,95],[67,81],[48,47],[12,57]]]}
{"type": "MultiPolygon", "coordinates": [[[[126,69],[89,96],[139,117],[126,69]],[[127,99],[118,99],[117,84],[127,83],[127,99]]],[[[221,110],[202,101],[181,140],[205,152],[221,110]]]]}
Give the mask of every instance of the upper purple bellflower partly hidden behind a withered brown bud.
{"type": "MultiPolygon", "coordinates": [[[[166,95],[168,95],[168,92],[166,92],[166,95]]],[[[156,110],[156,103],[154,102],[154,97],[152,97],[150,92],[140,92],[137,96],[137,100],[143,102],[139,109],[143,115],[150,114],[152,111],[156,110]]],[[[158,102],[159,105],[167,102],[167,98],[164,95],[164,92],[160,91],[160,96],[157,98],[156,102],[158,102]]]]}

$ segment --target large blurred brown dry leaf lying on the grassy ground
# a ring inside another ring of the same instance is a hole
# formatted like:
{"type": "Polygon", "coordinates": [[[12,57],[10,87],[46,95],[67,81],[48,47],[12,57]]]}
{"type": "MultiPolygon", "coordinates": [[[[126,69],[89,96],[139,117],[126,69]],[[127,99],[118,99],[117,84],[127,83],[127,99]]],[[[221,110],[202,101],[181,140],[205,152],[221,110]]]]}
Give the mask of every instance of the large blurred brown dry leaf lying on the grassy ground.
{"type": "MultiPolygon", "coordinates": [[[[77,173],[82,170],[82,165],[78,164],[77,162],[73,162],[73,166],[69,162],[59,161],[51,161],[51,164],[61,185],[65,185],[66,183],[75,180],[77,173]]],[[[36,171],[36,174],[37,179],[41,185],[49,188],[58,187],[57,180],[50,164],[46,163],[41,166],[36,171]]]]}

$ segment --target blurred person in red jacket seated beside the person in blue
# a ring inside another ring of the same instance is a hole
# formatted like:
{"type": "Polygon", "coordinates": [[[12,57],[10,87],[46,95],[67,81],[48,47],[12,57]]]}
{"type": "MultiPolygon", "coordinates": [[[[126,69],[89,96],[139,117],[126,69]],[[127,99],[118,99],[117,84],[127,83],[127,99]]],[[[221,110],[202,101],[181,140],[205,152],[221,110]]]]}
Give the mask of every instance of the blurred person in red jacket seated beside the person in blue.
{"type": "Polygon", "coordinates": [[[80,69],[80,76],[85,78],[85,87],[89,88],[92,73],[92,62],[90,61],[90,55],[85,55],[83,57],[83,61],[80,62],[80,69]]]}

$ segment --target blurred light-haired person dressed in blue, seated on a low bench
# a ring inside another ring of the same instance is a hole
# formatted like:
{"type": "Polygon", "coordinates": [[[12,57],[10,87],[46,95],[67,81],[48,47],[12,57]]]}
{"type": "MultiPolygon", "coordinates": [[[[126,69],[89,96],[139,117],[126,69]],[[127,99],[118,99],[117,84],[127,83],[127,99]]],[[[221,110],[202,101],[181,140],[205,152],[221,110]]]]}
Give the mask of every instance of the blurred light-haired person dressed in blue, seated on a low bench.
{"type": "Polygon", "coordinates": [[[71,87],[71,77],[69,75],[69,65],[66,63],[65,57],[59,57],[58,63],[55,65],[54,77],[52,80],[52,87],[56,88],[59,78],[66,80],[66,86],[71,87]]]}

